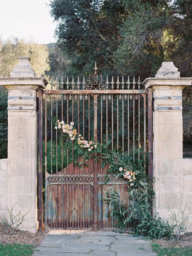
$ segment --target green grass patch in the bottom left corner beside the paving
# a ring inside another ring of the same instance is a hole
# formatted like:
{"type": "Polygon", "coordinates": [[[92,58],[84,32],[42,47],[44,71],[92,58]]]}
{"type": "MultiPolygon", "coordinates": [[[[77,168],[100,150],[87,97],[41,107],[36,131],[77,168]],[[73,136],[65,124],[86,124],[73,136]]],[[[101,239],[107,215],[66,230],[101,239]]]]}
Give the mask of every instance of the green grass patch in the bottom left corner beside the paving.
{"type": "Polygon", "coordinates": [[[0,244],[0,256],[30,256],[33,254],[33,245],[0,244]]]}

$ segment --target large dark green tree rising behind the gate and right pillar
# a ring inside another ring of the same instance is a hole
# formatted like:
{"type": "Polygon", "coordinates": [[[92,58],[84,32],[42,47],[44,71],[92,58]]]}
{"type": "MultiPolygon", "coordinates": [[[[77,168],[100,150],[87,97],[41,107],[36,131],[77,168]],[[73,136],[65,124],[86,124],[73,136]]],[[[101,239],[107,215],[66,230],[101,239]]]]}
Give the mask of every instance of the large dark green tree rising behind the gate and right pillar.
{"type": "MultiPolygon", "coordinates": [[[[89,74],[94,61],[104,74],[141,79],[173,61],[181,76],[191,76],[191,0],[50,0],[49,6],[70,76],[89,74]]],[[[184,99],[183,107],[192,106],[189,90],[184,99]]],[[[185,140],[191,138],[190,113],[183,111],[185,140]]]]}

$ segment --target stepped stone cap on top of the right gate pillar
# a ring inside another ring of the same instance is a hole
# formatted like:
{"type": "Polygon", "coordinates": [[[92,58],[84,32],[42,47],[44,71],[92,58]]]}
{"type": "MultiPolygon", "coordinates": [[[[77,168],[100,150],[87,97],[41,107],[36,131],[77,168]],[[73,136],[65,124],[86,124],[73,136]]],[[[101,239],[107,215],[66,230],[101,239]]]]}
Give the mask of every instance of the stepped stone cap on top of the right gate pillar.
{"type": "Polygon", "coordinates": [[[163,61],[155,77],[156,78],[178,78],[180,77],[180,72],[178,72],[178,68],[175,67],[175,65],[173,64],[173,61],[163,61]]]}

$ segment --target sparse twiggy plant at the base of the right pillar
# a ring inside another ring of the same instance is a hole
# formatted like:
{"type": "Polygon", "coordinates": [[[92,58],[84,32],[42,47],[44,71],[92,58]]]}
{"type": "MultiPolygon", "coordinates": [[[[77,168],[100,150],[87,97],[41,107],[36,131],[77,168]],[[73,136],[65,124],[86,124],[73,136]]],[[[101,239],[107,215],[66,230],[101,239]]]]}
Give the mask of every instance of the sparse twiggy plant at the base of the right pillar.
{"type": "Polygon", "coordinates": [[[190,212],[186,216],[185,215],[185,210],[186,210],[186,206],[185,206],[184,210],[179,209],[179,211],[177,213],[174,212],[174,210],[170,210],[171,214],[169,216],[172,219],[172,224],[171,225],[174,228],[174,235],[175,235],[174,238],[176,239],[177,242],[179,241],[179,237],[181,236],[181,233],[186,232],[185,224],[186,224],[188,216],[191,213],[190,212]],[[179,214],[181,214],[181,217],[179,216],[179,214]]]}

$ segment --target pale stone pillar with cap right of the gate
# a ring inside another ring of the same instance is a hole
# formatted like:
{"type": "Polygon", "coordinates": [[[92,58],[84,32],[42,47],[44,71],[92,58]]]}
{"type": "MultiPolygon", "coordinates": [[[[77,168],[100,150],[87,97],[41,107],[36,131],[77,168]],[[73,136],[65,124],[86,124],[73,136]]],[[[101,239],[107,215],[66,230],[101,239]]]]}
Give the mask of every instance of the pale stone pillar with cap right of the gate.
{"type": "Polygon", "coordinates": [[[192,78],[181,78],[172,61],[163,62],[154,78],[143,82],[152,88],[153,109],[153,177],[155,199],[153,212],[169,219],[168,207],[175,211],[182,204],[183,122],[182,89],[192,78]]]}

